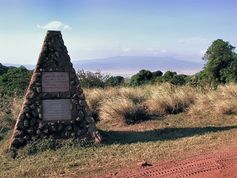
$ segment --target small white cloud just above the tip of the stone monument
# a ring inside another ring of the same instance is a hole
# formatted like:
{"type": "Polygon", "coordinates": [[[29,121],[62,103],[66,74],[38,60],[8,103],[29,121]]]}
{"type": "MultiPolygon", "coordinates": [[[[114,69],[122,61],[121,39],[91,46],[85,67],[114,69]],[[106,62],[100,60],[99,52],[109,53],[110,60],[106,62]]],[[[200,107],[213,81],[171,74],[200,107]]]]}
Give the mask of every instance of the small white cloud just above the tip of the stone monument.
{"type": "Polygon", "coordinates": [[[60,21],[52,21],[43,26],[37,24],[37,28],[41,28],[45,30],[71,30],[72,29],[72,27],[60,21]]]}

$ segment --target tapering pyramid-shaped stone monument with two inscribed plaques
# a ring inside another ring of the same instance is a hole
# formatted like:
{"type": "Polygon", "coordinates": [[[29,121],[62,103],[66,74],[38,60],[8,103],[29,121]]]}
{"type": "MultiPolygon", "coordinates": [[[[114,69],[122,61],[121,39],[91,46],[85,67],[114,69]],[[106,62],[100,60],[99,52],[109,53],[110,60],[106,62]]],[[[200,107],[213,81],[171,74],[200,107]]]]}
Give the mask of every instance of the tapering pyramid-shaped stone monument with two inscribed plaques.
{"type": "Polygon", "coordinates": [[[101,140],[60,31],[46,34],[10,149],[43,138],[101,140]]]}

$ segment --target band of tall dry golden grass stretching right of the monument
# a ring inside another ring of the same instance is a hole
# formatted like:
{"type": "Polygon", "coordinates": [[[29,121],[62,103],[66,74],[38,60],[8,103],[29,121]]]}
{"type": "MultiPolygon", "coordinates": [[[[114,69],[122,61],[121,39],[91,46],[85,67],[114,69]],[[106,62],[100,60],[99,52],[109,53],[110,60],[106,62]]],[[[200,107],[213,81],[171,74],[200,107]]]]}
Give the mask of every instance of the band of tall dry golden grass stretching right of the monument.
{"type": "MultiPolygon", "coordinates": [[[[88,104],[100,120],[126,122],[187,112],[190,116],[237,114],[237,85],[199,90],[170,84],[86,90],[88,104]],[[141,114],[142,117],[138,117],[141,114]]],[[[129,122],[133,123],[133,122],[129,122]]],[[[135,122],[134,122],[135,123],[135,122]]]]}

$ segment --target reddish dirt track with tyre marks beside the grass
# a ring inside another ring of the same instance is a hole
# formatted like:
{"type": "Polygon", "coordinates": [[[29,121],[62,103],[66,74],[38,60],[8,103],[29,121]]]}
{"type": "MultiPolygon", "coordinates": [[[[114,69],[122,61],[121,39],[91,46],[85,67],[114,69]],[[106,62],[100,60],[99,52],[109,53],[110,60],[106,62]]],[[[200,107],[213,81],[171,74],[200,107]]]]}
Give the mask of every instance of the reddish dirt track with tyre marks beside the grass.
{"type": "Polygon", "coordinates": [[[190,157],[182,161],[169,161],[157,165],[144,163],[136,168],[110,173],[100,178],[144,177],[237,178],[237,149],[228,149],[213,154],[190,157]]]}

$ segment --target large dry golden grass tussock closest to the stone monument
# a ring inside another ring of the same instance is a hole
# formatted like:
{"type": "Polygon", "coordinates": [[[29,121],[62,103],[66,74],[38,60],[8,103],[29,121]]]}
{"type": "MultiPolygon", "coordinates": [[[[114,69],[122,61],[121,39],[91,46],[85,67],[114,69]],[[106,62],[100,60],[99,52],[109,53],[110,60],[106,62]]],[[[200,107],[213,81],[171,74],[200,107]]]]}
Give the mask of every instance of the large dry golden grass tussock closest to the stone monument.
{"type": "Polygon", "coordinates": [[[114,124],[135,122],[142,114],[145,100],[142,88],[107,88],[85,90],[88,105],[101,120],[113,120],[114,124]]]}

